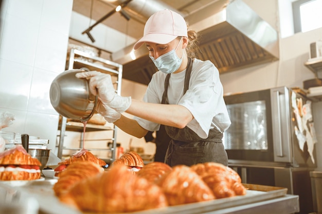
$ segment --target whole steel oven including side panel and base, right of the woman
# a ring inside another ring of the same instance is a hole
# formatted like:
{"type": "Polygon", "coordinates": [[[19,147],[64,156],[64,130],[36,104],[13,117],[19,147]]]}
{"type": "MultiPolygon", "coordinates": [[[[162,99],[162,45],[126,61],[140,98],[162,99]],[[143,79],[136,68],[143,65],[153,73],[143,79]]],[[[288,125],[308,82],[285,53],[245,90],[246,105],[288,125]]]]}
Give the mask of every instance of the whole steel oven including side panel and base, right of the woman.
{"type": "Polygon", "coordinates": [[[315,151],[310,152],[311,142],[303,142],[298,134],[303,127],[310,131],[311,123],[303,124],[299,115],[308,99],[287,87],[224,99],[231,120],[223,139],[229,166],[243,183],[288,188],[288,193],[299,195],[300,213],[311,212],[309,173],[316,167],[315,151]]]}

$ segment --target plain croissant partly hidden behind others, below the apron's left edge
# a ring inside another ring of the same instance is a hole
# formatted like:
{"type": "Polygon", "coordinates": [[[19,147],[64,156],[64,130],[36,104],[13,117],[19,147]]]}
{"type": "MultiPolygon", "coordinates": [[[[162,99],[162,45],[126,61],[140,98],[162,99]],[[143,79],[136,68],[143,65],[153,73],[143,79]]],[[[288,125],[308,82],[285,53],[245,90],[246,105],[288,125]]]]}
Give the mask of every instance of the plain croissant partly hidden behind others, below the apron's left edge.
{"type": "Polygon", "coordinates": [[[155,183],[163,174],[171,170],[172,168],[168,164],[151,162],[141,168],[136,174],[141,178],[147,179],[151,183],[155,183]]]}

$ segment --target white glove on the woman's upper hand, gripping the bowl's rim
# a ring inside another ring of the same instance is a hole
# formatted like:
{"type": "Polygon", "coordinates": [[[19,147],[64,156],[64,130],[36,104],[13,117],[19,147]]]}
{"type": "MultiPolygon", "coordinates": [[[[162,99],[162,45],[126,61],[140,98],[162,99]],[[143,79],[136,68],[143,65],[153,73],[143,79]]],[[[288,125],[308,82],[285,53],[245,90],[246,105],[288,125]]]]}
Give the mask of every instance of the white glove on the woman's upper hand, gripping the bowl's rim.
{"type": "MultiPolygon", "coordinates": [[[[109,106],[117,112],[126,111],[131,105],[130,96],[120,96],[115,92],[110,74],[98,71],[85,71],[76,74],[77,78],[90,78],[90,91],[96,95],[104,106],[109,106]]],[[[102,114],[104,115],[104,113],[102,114]]]]}

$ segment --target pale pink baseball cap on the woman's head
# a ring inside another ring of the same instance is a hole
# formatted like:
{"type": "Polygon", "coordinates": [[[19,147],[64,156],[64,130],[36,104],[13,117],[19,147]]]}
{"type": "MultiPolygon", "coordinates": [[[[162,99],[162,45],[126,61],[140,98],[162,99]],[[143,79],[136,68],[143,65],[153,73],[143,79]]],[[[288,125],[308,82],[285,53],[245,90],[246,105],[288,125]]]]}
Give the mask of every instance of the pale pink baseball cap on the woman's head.
{"type": "Polygon", "coordinates": [[[143,37],[133,48],[136,50],[145,42],[167,44],[177,36],[188,37],[185,19],[171,10],[161,10],[150,16],[144,27],[143,37]]]}

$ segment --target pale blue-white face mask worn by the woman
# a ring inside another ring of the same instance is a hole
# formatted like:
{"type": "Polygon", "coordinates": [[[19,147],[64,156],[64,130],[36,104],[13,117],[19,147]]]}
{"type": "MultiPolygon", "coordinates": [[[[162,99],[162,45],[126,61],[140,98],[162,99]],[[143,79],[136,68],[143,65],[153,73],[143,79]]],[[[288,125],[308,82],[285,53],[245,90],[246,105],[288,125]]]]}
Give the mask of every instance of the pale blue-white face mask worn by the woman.
{"type": "Polygon", "coordinates": [[[154,63],[154,65],[157,67],[157,69],[159,71],[162,71],[164,73],[173,73],[174,71],[176,71],[180,67],[180,65],[182,63],[183,54],[182,54],[181,58],[179,58],[176,55],[175,51],[178,48],[181,40],[182,40],[182,37],[175,49],[169,51],[168,53],[160,55],[156,60],[154,60],[154,57],[149,55],[152,62],[154,63]]]}

